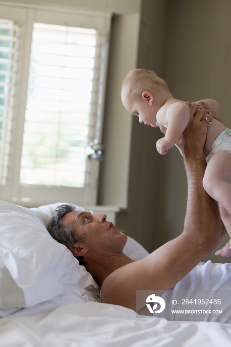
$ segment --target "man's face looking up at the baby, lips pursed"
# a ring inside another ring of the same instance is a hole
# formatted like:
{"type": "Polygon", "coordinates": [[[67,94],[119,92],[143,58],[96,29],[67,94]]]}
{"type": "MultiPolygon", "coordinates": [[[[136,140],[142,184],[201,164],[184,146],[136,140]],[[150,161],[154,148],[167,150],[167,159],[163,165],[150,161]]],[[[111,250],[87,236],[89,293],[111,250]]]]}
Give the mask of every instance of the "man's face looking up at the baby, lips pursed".
{"type": "Polygon", "coordinates": [[[72,211],[62,218],[62,226],[71,225],[78,236],[87,235],[84,247],[90,252],[121,252],[127,236],[121,234],[106,218],[105,214],[93,215],[87,211],[72,211]]]}

